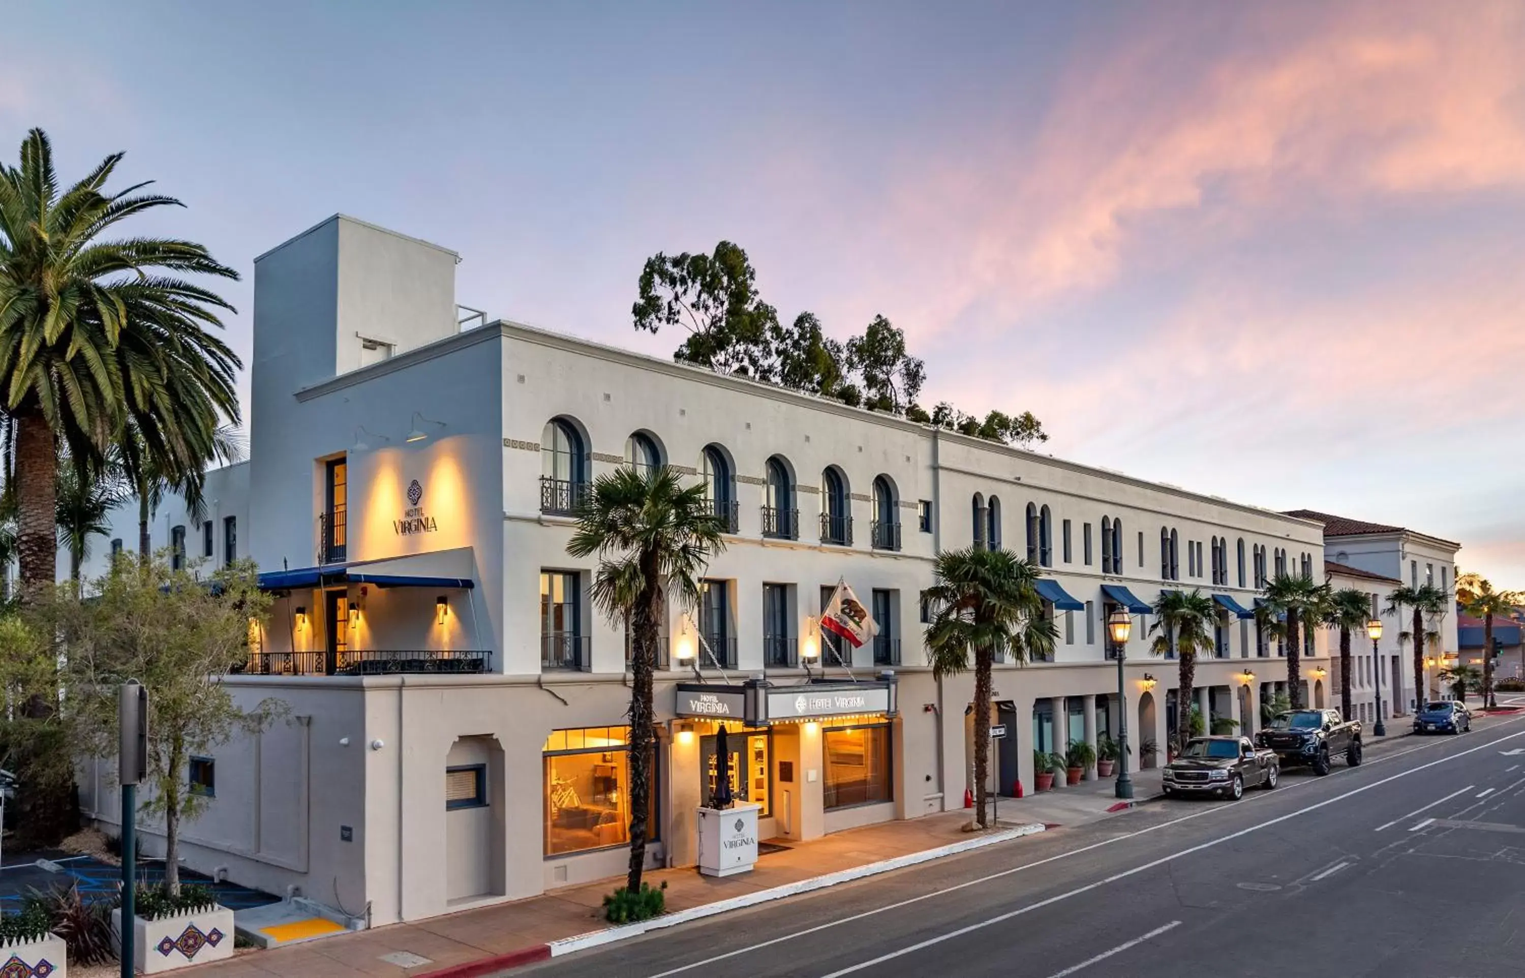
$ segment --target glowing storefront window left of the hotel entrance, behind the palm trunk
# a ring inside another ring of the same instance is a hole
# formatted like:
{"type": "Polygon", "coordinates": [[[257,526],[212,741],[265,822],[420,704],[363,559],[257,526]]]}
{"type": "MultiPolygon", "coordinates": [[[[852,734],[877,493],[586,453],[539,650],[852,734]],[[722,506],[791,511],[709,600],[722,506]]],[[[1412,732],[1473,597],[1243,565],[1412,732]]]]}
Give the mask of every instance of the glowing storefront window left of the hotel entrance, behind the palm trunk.
{"type": "MultiPolygon", "coordinates": [[[[630,842],[628,735],[625,726],[590,726],[555,731],[546,738],[547,856],[630,842]]],[[[656,839],[656,764],[651,770],[647,838],[656,839]]]]}

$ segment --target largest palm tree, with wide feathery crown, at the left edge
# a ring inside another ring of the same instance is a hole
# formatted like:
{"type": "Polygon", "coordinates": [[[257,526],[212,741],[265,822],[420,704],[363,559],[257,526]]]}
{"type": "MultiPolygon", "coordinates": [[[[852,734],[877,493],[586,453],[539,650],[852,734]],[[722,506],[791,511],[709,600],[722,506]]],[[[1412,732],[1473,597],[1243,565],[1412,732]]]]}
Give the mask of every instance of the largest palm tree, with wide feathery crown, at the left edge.
{"type": "Polygon", "coordinates": [[[17,546],[24,587],[58,568],[59,442],[76,458],[105,453],[127,421],[165,468],[212,456],[221,418],[238,420],[233,351],[206,331],[232,310],[178,278],[238,273],[204,247],[172,238],[101,241],[120,221],[172,197],[102,188],[122,154],[59,191],[43,130],[0,163],[0,409],[15,423],[17,546]]]}

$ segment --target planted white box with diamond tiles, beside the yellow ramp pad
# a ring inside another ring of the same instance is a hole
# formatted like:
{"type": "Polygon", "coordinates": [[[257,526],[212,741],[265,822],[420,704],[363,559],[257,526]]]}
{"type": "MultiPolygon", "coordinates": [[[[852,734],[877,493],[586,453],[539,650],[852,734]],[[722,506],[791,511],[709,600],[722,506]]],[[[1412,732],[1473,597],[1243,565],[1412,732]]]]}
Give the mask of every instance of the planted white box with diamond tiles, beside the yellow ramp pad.
{"type": "MultiPolygon", "coordinates": [[[[163,883],[140,886],[133,909],[133,957],[145,975],[233,957],[233,911],[206,886],[186,883],[178,893],[163,883]]],[[[111,922],[117,934],[128,926],[120,906],[111,922]]]]}

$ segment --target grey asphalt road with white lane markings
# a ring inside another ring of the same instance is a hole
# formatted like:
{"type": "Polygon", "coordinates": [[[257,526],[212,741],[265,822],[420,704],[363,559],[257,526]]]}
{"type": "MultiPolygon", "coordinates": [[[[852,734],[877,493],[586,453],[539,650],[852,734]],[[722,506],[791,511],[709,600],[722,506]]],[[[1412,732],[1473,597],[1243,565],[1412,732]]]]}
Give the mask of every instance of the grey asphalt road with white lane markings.
{"type": "Polygon", "coordinates": [[[1287,772],[1240,803],[1151,803],[517,973],[1522,972],[1525,714],[1392,742],[1325,778],[1287,772]]]}

